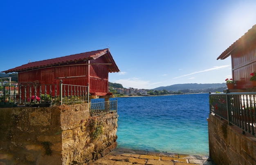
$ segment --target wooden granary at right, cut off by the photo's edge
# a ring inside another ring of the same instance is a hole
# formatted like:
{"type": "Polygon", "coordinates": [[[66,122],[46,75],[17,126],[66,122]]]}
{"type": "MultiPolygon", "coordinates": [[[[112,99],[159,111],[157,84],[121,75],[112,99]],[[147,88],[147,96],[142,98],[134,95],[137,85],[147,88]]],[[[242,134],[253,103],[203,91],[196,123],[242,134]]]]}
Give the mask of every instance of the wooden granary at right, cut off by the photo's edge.
{"type": "Polygon", "coordinates": [[[256,25],[245,35],[236,40],[218,58],[231,56],[232,78],[236,81],[236,89],[252,88],[250,74],[256,71],[256,25]]]}

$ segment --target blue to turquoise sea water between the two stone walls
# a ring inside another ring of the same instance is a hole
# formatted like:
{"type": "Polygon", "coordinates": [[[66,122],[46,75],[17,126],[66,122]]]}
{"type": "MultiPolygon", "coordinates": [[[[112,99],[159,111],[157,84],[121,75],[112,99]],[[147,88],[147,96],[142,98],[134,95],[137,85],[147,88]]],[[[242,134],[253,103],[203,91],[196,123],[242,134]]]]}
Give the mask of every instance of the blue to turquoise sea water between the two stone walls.
{"type": "Polygon", "coordinates": [[[117,98],[117,147],[209,155],[209,94],[117,98]]]}

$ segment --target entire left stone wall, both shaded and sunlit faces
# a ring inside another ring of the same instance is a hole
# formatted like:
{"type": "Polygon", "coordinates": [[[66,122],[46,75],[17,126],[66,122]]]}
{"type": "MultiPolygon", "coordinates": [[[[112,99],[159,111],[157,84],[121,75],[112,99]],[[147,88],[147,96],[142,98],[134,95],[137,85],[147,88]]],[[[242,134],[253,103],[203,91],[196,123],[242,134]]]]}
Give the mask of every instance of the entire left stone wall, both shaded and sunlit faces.
{"type": "Polygon", "coordinates": [[[0,165],[93,162],[115,149],[116,132],[117,114],[91,118],[88,104],[0,108],[0,165]]]}

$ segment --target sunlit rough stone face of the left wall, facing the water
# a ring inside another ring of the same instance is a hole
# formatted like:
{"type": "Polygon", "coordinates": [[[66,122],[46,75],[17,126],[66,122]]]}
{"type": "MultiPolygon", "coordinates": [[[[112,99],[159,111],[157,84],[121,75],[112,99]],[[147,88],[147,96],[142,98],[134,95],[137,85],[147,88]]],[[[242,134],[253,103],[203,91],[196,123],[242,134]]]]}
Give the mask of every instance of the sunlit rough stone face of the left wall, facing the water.
{"type": "Polygon", "coordinates": [[[117,146],[117,114],[91,118],[89,109],[74,106],[61,114],[63,164],[90,163],[117,146]]]}

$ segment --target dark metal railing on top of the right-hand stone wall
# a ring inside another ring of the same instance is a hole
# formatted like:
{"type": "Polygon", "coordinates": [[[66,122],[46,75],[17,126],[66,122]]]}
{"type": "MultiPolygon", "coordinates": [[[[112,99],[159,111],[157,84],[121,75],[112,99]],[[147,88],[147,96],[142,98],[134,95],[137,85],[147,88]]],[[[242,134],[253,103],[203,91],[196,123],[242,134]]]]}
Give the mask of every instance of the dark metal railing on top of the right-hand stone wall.
{"type": "Polygon", "coordinates": [[[256,92],[209,94],[210,114],[256,136],[256,92]]]}

